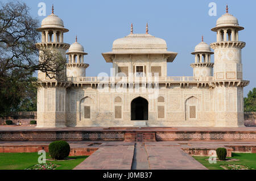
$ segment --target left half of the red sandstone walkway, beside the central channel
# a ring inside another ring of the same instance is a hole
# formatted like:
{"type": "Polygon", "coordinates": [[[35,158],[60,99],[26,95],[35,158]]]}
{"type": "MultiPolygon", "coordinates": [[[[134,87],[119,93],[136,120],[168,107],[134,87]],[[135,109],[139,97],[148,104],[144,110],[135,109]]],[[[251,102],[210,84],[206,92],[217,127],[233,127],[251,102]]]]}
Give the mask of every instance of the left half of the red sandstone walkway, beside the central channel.
{"type": "Polygon", "coordinates": [[[134,146],[102,146],[74,170],[130,170],[134,146]]]}

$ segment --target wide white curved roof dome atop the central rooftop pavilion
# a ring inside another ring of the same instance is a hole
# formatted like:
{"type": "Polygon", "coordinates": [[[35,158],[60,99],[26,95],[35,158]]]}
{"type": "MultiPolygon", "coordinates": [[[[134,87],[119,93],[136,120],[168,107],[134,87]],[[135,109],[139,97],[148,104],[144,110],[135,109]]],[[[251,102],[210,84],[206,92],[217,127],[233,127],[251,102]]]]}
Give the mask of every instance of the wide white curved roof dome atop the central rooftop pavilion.
{"type": "Polygon", "coordinates": [[[121,49],[163,49],[167,50],[166,41],[150,34],[133,34],[113,42],[113,50],[121,49]]]}

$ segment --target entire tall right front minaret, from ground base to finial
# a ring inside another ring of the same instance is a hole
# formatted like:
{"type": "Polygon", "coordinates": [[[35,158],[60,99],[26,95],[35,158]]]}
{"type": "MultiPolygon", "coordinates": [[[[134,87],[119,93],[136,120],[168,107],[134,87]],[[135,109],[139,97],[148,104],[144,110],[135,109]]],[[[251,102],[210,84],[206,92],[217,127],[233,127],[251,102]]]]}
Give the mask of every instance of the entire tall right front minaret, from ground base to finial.
{"type": "Polygon", "coordinates": [[[243,87],[249,84],[242,78],[241,49],[245,42],[238,40],[243,30],[237,18],[228,12],[218,18],[212,31],[217,41],[210,44],[214,50],[213,82],[216,127],[244,127],[243,87]]]}

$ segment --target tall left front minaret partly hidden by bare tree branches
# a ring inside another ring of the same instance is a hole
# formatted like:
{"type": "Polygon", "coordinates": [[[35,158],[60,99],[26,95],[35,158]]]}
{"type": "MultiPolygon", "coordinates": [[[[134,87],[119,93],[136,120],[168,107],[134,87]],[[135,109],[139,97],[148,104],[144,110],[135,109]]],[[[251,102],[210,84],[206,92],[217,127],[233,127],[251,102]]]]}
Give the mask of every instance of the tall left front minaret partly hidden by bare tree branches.
{"type": "MultiPolygon", "coordinates": [[[[64,43],[63,33],[68,32],[68,29],[64,28],[63,20],[54,14],[53,6],[52,14],[42,20],[41,27],[37,30],[42,32],[42,41],[36,44],[39,54],[43,53],[44,49],[56,50],[65,57],[69,44],[64,43]]],[[[46,76],[46,73],[38,71],[38,80],[41,87],[38,88],[38,119],[36,127],[66,127],[67,87],[71,83],[66,80],[65,69],[57,79],[50,79],[46,76]]]]}

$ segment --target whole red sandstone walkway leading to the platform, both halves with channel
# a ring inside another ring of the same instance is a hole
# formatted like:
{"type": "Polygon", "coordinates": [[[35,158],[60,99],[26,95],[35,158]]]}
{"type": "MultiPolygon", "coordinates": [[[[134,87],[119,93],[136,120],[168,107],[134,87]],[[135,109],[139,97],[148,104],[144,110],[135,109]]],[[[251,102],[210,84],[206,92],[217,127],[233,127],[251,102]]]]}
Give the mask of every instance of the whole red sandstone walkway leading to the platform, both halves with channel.
{"type": "Polygon", "coordinates": [[[158,169],[207,169],[178,145],[158,145],[143,142],[133,145],[105,145],[80,163],[76,170],[158,170],[158,169]]]}

